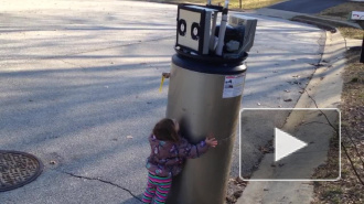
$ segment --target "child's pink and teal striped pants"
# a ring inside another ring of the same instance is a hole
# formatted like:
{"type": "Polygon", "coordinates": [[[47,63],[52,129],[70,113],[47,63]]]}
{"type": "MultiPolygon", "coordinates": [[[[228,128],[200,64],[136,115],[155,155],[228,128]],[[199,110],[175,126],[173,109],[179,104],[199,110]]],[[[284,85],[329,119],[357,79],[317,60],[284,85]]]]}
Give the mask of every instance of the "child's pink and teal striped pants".
{"type": "Polygon", "coordinates": [[[157,175],[148,173],[148,183],[144,194],[142,196],[143,203],[151,203],[153,200],[154,203],[165,203],[168,192],[171,189],[172,176],[160,178],[157,175]]]}

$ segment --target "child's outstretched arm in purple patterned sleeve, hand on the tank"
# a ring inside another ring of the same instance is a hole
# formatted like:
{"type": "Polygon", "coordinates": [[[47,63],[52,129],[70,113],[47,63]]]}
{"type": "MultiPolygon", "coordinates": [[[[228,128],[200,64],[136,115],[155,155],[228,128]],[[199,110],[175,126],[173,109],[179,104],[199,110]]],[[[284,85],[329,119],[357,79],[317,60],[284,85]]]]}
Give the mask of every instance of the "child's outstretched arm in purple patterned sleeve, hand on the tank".
{"type": "Polygon", "coordinates": [[[185,139],[182,139],[182,143],[179,147],[179,157],[186,159],[195,159],[204,154],[210,147],[215,148],[217,146],[217,140],[212,136],[207,137],[205,140],[192,144],[185,139]]]}

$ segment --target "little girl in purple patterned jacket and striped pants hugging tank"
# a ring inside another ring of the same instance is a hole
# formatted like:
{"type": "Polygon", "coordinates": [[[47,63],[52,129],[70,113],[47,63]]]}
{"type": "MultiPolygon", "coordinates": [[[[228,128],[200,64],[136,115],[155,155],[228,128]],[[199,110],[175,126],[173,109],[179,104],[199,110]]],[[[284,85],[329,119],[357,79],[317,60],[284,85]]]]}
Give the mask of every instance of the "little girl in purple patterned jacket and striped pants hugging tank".
{"type": "Polygon", "coordinates": [[[149,137],[151,153],[147,159],[149,173],[143,203],[151,203],[152,200],[154,203],[164,203],[172,184],[172,176],[182,171],[185,159],[199,158],[210,147],[217,146],[217,140],[211,137],[197,144],[191,144],[179,136],[179,130],[176,120],[164,118],[154,126],[149,137]]]}

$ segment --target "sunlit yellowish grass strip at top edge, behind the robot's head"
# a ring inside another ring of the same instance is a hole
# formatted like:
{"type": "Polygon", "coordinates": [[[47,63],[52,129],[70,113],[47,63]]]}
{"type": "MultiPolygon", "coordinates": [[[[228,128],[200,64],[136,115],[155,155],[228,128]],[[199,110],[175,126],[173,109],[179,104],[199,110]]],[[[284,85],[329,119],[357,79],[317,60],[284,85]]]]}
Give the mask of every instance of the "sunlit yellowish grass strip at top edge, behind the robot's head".
{"type": "MultiPolygon", "coordinates": [[[[157,1],[157,2],[164,2],[164,3],[194,3],[194,4],[206,4],[207,1],[205,0],[150,0],[150,1],[157,1]]],[[[254,9],[260,9],[265,7],[269,7],[271,4],[281,2],[282,0],[242,0],[244,10],[254,10],[254,9]]],[[[224,0],[213,0],[213,4],[221,3],[224,6],[224,0]]],[[[239,0],[231,0],[229,1],[229,8],[231,9],[239,9],[239,0]]]]}

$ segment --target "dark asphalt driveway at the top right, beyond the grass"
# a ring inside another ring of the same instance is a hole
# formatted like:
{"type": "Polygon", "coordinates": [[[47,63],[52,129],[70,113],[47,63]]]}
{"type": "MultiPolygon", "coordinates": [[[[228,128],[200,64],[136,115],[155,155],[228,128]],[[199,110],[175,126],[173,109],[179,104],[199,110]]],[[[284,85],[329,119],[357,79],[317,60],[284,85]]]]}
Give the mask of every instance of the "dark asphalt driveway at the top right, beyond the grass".
{"type": "Polygon", "coordinates": [[[271,6],[270,9],[314,14],[345,2],[347,0],[289,0],[271,6]]]}

